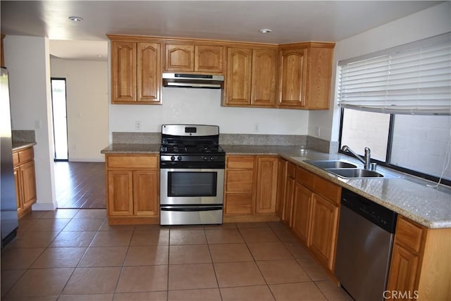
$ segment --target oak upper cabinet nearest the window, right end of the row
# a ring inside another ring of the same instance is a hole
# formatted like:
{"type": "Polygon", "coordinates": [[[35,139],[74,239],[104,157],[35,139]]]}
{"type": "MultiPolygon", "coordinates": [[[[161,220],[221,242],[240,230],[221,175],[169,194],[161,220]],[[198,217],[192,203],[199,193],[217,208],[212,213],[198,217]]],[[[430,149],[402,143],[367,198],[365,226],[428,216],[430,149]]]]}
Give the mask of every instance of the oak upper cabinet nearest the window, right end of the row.
{"type": "Polygon", "coordinates": [[[278,58],[278,107],[329,109],[333,43],[283,45],[278,58]]]}

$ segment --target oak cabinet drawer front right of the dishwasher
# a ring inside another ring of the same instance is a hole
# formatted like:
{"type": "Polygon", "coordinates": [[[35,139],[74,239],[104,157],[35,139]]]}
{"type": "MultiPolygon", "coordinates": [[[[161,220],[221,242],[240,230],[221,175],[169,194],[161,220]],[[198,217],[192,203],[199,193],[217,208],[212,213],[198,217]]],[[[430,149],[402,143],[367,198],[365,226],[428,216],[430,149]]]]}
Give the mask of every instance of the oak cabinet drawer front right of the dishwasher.
{"type": "Polygon", "coordinates": [[[402,243],[406,247],[411,248],[416,253],[420,252],[421,242],[423,240],[424,228],[413,223],[412,221],[407,221],[402,216],[397,219],[396,226],[396,242],[402,243]]]}

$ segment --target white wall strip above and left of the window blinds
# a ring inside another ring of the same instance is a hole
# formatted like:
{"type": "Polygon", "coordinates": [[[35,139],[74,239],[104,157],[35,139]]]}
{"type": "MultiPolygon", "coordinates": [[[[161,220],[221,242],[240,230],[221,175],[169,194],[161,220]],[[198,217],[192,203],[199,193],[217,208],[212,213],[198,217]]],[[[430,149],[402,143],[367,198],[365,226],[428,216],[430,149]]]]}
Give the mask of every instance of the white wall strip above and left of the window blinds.
{"type": "Polygon", "coordinates": [[[338,141],[340,110],[335,99],[335,73],[338,61],[450,32],[450,16],[451,2],[447,1],[337,42],[330,92],[331,109],[310,112],[309,135],[315,136],[316,127],[320,127],[321,139],[338,141]]]}

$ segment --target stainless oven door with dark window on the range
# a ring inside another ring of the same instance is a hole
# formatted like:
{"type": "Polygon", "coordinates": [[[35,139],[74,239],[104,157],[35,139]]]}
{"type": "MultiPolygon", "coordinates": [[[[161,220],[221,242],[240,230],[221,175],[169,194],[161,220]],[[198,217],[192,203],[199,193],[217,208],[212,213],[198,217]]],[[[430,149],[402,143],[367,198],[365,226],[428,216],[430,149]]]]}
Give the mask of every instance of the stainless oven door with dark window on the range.
{"type": "Polygon", "coordinates": [[[224,169],[161,168],[160,204],[221,205],[224,169]]]}

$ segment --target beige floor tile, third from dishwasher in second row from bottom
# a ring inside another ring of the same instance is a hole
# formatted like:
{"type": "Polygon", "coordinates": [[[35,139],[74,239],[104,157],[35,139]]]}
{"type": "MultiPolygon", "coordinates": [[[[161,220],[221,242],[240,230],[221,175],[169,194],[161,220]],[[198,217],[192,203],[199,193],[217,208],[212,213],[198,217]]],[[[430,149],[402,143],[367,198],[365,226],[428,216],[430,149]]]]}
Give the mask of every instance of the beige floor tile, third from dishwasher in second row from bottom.
{"type": "Polygon", "coordinates": [[[215,263],[220,288],[266,284],[255,262],[215,263]]]}

